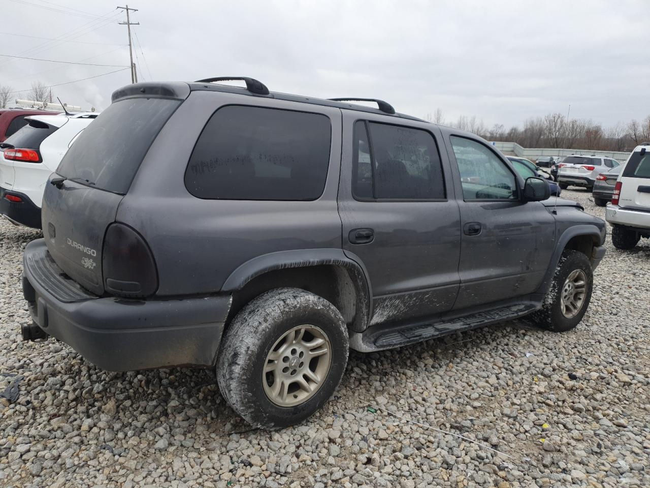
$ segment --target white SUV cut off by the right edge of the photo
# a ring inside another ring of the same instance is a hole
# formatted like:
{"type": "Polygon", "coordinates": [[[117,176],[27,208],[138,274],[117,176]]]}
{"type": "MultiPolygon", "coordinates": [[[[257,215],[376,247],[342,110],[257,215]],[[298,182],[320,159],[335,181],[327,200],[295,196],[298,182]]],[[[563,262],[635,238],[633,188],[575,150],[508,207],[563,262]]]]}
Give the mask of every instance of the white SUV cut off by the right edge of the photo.
{"type": "Polygon", "coordinates": [[[612,243],[632,249],[641,237],[650,238],[650,142],[636,146],[614,187],[606,221],[614,227],[612,243]]]}

